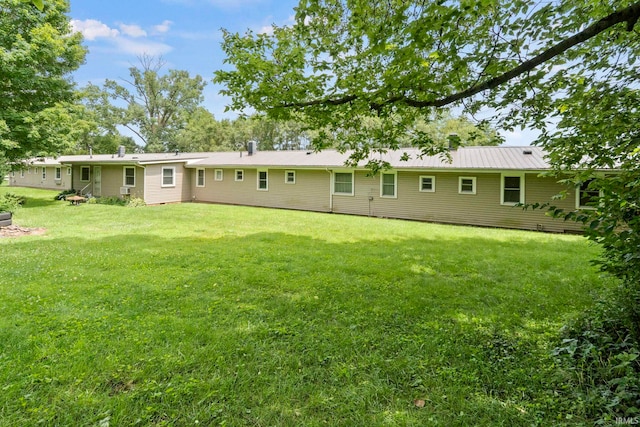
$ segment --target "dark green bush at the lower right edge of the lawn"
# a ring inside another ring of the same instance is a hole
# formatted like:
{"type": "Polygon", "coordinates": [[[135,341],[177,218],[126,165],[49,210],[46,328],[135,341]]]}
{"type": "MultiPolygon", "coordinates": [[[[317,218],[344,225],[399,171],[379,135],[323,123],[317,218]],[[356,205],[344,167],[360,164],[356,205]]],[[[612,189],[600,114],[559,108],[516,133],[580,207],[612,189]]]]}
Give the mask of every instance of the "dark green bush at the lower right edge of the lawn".
{"type": "Polygon", "coordinates": [[[584,415],[606,424],[640,415],[640,286],[625,285],[562,330],[553,350],[584,415]]]}

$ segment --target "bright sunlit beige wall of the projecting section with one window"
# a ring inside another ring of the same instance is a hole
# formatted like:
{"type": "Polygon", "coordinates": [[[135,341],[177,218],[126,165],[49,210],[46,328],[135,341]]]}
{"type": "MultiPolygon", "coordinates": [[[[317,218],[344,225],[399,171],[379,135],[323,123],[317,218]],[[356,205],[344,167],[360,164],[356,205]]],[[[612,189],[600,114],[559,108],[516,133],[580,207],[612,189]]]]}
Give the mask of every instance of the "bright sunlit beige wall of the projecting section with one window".
{"type": "MultiPolygon", "coordinates": [[[[161,203],[177,203],[191,201],[192,169],[185,169],[183,163],[162,163],[145,166],[144,172],[144,200],[149,205],[161,203]],[[173,186],[162,185],[162,168],[175,168],[173,186]]],[[[141,177],[142,178],[142,177],[141,177]]],[[[137,179],[137,176],[136,176],[137,179]]]]}

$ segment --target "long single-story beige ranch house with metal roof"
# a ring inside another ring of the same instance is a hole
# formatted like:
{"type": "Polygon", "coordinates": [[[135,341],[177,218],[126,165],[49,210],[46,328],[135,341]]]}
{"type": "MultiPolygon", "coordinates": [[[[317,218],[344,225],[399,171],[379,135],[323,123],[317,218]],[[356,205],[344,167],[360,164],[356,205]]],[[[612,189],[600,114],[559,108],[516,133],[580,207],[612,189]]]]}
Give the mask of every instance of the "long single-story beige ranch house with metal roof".
{"type": "MultiPolygon", "coordinates": [[[[348,153],[254,147],[36,158],[11,172],[9,184],[136,197],[149,205],[203,202],[550,232],[581,229],[544,209],[516,206],[550,202],[567,190],[557,178],[543,175],[550,166],[539,147],[461,147],[450,152],[451,161],[419,156],[417,149],[389,151],[376,158],[391,168],[373,176],[364,166],[346,167],[348,153]]],[[[593,196],[585,185],[553,204],[588,209],[593,196]]]]}

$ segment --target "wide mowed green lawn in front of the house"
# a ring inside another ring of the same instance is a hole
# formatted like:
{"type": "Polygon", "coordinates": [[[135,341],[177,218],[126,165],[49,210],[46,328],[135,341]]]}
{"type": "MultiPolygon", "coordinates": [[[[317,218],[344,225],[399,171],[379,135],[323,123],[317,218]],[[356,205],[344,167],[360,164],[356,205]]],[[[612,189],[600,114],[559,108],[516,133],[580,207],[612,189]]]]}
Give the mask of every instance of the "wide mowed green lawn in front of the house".
{"type": "Polygon", "coordinates": [[[581,237],[6,191],[47,232],[0,239],[0,425],[580,421],[550,346],[609,286],[581,237]]]}

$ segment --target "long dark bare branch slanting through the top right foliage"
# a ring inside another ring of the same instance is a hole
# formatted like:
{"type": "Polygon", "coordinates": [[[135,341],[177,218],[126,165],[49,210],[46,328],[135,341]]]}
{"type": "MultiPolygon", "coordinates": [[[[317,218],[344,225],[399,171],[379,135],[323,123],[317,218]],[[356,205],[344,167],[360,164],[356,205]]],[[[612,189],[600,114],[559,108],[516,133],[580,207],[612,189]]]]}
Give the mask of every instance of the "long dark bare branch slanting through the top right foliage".
{"type": "MultiPolygon", "coordinates": [[[[585,41],[597,36],[598,34],[602,33],[603,31],[606,31],[607,29],[615,25],[618,25],[620,23],[626,23],[627,31],[632,31],[635,24],[638,22],[639,18],[640,18],[640,2],[636,2],[624,9],[613,12],[610,15],[600,19],[599,21],[595,22],[594,24],[590,25],[589,27],[585,28],[579,33],[561,41],[560,43],[556,44],[555,46],[552,46],[551,48],[545,50],[539,55],[523,62],[522,64],[513,68],[512,70],[507,71],[492,79],[489,79],[483,83],[474,85],[461,92],[454,93],[452,95],[449,95],[443,98],[428,100],[428,101],[418,100],[418,99],[410,98],[404,95],[398,95],[398,96],[389,97],[382,102],[375,102],[375,103],[371,102],[370,105],[371,105],[371,108],[376,110],[380,109],[383,105],[389,105],[389,104],[395,104],[395,103],[404,103],[408,106],[416,107],[416,108],[444,107],[446,105],[453,104],[462,99],[470,98],[474,95],[477,95],[480,92],[484,92],[489,89],[494,89],[510,80],[513,80],[514,78],[528,71],[533,70],[538,65],[543,64],[558,55],[563,54],[564,52],[571,49],[572,47],[579,45],[580,43],[584,43],[585,41]]],[[[369,95],[375,96],[377,95],[377,93],[371,93],[369,95]]],[[[346,95],[339,98],[324,98],[324,99],[317,99],[317,100],[306,101],[306,102],[284,103],[279,107],[304,108],[304,107],[312,107],[316,105],[334,105],[335,106],[335,105],[348,104],[349,102],[353,102],[359,98],[361,98],[361,96],[359,95],[346,95]]]]}

